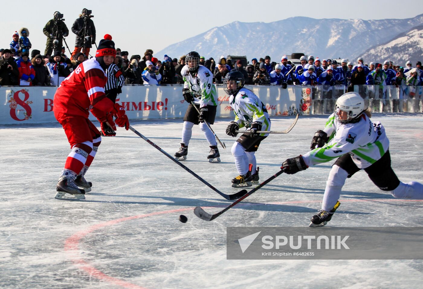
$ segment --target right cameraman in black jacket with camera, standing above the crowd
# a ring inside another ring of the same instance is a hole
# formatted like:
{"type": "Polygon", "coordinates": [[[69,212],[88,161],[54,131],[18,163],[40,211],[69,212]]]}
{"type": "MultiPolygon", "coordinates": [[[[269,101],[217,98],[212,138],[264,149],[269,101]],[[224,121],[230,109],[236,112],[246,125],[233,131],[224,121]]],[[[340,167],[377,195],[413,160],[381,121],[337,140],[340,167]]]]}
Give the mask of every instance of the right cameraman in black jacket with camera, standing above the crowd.
{"type": "Polygon", "coordinates": [[[91,44],[96,43],[96,27],[94,26],[93,20],[91,20],[92,17],[94,16],[91,15],[91,10],[84,8],[82,9],[82,14],[80,14],[79,18],[76,19],[72,25],[71,30],[77,35],[77,38],[71,58],[79,53],[81,49],[82,52],[88,56],[90,54],[90,48],[92,47],[91,44]]]}

